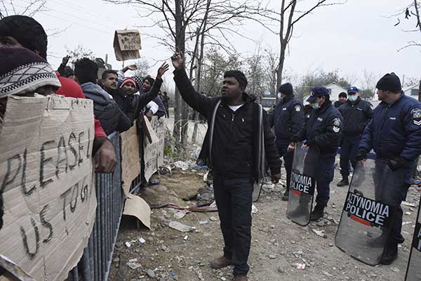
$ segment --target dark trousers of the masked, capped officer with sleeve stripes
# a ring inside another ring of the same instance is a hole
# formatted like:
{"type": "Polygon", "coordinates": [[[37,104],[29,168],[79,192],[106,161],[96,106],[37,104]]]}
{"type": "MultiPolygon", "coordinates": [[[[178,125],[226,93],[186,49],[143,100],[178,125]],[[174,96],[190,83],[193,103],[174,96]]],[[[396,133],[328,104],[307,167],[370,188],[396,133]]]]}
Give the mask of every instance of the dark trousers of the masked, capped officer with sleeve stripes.
{"type": "Polygon", "coordinates": [[[316,188],[317,196],[316,203],[326,205],[329,201],[330,182],[333,181],[333,174],[335,169],[335,156],[320,157],[319,165],[317,167],[316,188]]]}

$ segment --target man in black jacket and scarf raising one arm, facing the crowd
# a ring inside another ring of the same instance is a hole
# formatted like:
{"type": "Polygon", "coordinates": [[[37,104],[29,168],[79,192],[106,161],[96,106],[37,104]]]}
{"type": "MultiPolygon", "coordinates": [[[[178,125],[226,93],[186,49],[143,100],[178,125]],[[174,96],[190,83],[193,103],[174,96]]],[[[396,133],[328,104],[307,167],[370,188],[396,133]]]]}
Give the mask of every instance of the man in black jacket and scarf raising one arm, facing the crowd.
{"type": "Polygon", "coordinates": [[[198,161],[213,167],[215,200],[224,237],[224,255],[211,263],[212,268],[234,265],[234,280],[247,280],[248,254],[251,240],[251,207],[253,181],[259,177],[259,129],[264,129],[265,157],[275,183],[281,178],[274,136],[263,114],[259,124],[260,106],[244,90],[247,79],[238,70],[225,72],[221,96],[206,98],[196,92],[179,53],[172,57],[175,85],[185,102],[206,116],[208,131],[198,161]],[[264,128],[262,128],[264,124],[264,128]]]}

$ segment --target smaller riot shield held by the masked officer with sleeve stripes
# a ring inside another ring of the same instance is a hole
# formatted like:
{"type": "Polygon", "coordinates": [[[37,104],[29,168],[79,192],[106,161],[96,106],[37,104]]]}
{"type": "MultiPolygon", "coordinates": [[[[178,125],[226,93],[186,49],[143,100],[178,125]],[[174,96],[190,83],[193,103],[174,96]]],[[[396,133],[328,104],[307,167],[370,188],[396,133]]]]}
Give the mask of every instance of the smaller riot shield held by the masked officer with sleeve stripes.
{"type": "Polygon", "coordinates": [[[302,148],[302,143],[295,145],[286,216],[300,226],[307,226],[310,222],[318,161],[316,147],[302,148]]]}

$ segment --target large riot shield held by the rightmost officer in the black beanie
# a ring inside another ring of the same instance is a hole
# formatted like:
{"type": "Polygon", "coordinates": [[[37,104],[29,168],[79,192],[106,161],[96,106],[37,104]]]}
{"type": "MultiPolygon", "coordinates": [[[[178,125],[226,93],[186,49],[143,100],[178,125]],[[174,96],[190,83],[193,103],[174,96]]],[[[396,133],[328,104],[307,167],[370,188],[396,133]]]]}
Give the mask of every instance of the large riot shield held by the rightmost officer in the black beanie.
{"type": "Polygon", "coordinates": [[[336,247],[375,266],[380,263],[405,170],[392,171],[387,162],[367,159],[356,167],[336,232],[336,247]],[[396,200],[395,200],[396,201],[396,200]]]}

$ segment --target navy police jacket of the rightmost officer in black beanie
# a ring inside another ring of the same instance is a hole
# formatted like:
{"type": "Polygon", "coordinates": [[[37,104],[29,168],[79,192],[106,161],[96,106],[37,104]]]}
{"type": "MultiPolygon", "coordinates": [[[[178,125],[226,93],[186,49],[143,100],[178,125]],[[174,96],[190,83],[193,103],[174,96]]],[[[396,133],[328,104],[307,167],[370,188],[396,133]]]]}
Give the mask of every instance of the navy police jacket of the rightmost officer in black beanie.
{"type": "Polygon", "coordinates": [[[421,153],[421,103],[401,93],[392,105],[377,105],[359,148],[373,148],[377,158],[414,161],[421,153]]]}

